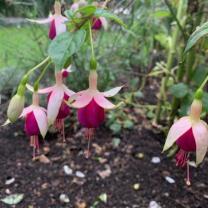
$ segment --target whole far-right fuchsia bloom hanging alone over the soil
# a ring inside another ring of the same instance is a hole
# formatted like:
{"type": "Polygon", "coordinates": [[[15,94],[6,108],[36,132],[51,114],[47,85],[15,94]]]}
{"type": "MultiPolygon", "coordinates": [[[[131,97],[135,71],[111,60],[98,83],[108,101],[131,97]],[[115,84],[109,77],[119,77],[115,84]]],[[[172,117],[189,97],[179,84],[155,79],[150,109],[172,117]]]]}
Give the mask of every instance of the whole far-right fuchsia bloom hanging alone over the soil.
{"type": "Polygon", "coordinates": [[[180,148],[176,155],[176,165],[184,167],[187,165],[187,185],[190,185],[189,178],[189,154],[196,152],[196,165],[199,165],[208,148],[208,126],[200,120],[202,103],[194,100],[190,116],[182,117],[170,128],[163,151],[168,150],[174,143],[180,148]]]}

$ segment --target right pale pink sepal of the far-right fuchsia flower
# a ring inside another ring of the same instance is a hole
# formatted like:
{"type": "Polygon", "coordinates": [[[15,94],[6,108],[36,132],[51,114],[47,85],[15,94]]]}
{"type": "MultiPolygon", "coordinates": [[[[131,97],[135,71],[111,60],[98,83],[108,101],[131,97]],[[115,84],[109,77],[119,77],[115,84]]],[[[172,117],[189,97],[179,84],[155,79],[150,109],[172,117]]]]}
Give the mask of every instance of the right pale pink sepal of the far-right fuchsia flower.
{"type": "Polygon", "coordinates": [[[193,125],[193,134],[196,141],[196,165],[199,165],[208,148],[208,127],[204,121],[199,121],[193,125]]]}

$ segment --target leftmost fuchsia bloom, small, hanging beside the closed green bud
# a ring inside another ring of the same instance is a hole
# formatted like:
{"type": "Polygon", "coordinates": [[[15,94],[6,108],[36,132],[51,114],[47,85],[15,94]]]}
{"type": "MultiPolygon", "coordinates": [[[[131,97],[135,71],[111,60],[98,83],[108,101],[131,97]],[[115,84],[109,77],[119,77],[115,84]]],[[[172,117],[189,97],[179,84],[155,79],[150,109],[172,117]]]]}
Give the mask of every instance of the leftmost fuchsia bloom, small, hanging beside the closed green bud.
{"type": "Polygon", "coordinates": [[[39,106],[39,97],[33,93],[32,105],[24,108],[20,118],[25,118],[25,132],[30,137],[30,145],[33,147],[33,158],[36,152],[39,153],[39,138],[41,134],[44,138],[48,131],[46,110],[39,106]]]}

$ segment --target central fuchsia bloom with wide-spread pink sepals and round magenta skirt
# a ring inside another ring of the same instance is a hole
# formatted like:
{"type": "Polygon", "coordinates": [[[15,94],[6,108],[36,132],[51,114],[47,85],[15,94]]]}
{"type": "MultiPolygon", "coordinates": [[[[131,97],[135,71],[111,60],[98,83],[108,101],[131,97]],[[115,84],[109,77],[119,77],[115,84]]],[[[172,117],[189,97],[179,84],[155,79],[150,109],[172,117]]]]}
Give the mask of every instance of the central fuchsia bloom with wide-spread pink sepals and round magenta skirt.
{"type": "MultiPolygon", "coordinates": [[[[106,99],[116,95],[122,87],[116,87],[107,92],[99,92],[97,89],[97,72],[90,71],[89,88],[74,94],[68,101],[69,106],[78,109],[77,117],[80,124],[85,127],[88,141],[94,135],[94,129],[98,128],[105,119],[105,110],[114,109],[117,106],[106,99]]],[[[89,149],[87,150],[89,156],[89,149]]]]}

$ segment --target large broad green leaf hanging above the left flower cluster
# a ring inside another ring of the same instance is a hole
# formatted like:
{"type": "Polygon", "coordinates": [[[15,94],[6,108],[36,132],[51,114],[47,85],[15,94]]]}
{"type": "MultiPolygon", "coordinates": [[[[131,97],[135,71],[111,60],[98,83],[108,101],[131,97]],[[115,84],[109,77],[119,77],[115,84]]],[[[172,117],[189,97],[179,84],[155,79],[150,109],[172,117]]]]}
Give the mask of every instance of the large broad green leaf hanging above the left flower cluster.
{"type": "Polygon", "coordinates": [[[65,32],[51,42],[48,54],[55,64],[56,71],[63,69],[69,58],[80,49],[85,36],[85,30],[73,33],[65,32]]]}

